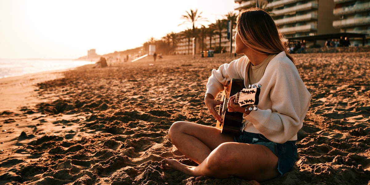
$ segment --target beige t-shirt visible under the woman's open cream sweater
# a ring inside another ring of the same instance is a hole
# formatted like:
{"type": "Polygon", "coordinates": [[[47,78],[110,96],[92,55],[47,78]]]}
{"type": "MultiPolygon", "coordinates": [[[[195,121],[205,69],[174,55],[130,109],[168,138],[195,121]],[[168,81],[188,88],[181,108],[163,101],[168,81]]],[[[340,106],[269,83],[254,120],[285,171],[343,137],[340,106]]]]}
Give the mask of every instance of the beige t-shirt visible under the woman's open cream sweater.
{"type": "Polygon", "coordinates": [[[265,58],[265,60],[262,61],[259,65],[253,66],[252,63],[250,63],[249,67],[247,67],[246,71],[248,74],[248,77],[246,78],[246,87],[248,87],[249,84],[255,84],[259,82],[265,73],[266,67],[269,64],[269,62],[276,56],[276,54],[270,54],[268,57],[265,58]]]}

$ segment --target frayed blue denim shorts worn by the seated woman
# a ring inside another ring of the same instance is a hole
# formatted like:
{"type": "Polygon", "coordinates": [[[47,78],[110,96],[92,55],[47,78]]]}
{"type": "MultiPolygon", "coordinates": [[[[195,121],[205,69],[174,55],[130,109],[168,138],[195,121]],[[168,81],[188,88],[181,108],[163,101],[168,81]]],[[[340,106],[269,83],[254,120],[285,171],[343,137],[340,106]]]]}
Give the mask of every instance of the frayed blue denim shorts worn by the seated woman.
{"type": "Polygon", "coordinates": [[[297,161],[297,145],[295,141],[283,144],[272,142],[262,134],[243,131],[239,137],[234,137],[235,142],[263,145],[269,148],[278,158],[277,170],[280,176],[290,171],[297,161]]]}

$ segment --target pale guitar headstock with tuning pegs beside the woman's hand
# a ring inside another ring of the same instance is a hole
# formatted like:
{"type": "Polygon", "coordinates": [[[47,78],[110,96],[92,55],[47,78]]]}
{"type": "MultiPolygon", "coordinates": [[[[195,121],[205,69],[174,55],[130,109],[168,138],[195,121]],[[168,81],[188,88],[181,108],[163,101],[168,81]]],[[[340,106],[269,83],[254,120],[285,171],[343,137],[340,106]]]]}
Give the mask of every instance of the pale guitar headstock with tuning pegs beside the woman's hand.
{"type": "Polygon", "coordinates": [[[249,88],[243,88],[242,91],[236,94],[234,103],[239,104],[240,107],[253,105],[253,108],[249,107],[249,109],[257,110],[256,105],[258,105],[259,101],[260,87],[262,87],[262,85],[258,84],[249,85],[249,88]]]}

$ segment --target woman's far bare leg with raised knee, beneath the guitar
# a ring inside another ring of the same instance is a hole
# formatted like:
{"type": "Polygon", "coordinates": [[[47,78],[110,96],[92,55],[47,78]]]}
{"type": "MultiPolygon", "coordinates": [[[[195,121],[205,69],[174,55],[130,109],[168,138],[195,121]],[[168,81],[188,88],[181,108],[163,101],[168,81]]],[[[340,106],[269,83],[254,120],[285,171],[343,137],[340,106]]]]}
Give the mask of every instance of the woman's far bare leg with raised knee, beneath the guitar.
{"type": "Polygon", "coordinates": [[[213,149],[224,142],[232,142],[220,129],[186,121],[172,124],[168,131],[172,144],[194,162],[201,164],[213,149]]]}

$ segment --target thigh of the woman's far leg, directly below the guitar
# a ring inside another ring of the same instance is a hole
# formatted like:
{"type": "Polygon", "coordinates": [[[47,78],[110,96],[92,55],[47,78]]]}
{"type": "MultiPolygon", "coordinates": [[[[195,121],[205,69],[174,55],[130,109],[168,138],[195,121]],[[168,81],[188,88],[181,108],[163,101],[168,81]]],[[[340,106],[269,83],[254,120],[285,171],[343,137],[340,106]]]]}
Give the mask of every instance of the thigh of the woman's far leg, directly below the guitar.
{"type": "Polygon", "coordinates": [[[173,142],[179,142],[176,140],[186,142],[186,140],[182,139],[186,139],[186,137],[189,136],[195,137],[211,150],[215,149],[224,142],[234,141],[233,137],[230,135],[221,134],[220,129],[216,127],[186,121],[177,121],[172,124],[168,134],[173,142]]]}

